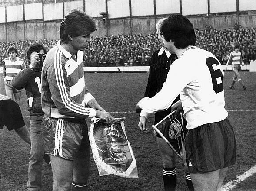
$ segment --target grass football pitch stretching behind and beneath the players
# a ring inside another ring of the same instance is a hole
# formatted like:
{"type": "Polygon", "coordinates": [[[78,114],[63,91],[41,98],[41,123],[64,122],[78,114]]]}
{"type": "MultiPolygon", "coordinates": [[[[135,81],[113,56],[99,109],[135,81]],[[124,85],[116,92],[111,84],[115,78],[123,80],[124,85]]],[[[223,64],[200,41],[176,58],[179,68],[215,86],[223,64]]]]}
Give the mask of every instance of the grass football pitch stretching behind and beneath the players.
{"type": "MultiPolygon", "coordinates": [[[[90,191],[160,191],[163,190],[162,161],[152,130],[141,132],[137,127],[139,114],[133,113],[136,103],[143,97],[148,73],[85,74],[87,87],[98,103],[114,117],[126,117],[125,126],[138,166],[139,178],[115,175],[99,177],[93,157],[90,160],[90,191]],[[128,112],[128,113],[125,113],[128,112]]],[[[236,165],[229,168],[224,184],[236,179],[256,165],[256,73],[242,72],[246,91],[237,83],[236,90],[229,85],[233,72],[224,74],[224,91],[229,120],[236,134],[236,165]]],[[[5,94],[3,76],[0,75],[0,93],[5,94]]],[[[22,93],[21,110],[29,127],[27,97],[22,93]]],[[[153,124],[150,115],[148,128],[153,124]]],[[[14,131],[0,130],[0,191],[25,191],[30,146],[14,131]]],[[[256,174],[239,183],[232,191],[256,191],[256,174]]],[[[53,187],[51,169],[43,162],[43,188],[53,187]]],[[[176,191],[186,191],[186,181],[180,159],[177,158],[176,191]]]]}

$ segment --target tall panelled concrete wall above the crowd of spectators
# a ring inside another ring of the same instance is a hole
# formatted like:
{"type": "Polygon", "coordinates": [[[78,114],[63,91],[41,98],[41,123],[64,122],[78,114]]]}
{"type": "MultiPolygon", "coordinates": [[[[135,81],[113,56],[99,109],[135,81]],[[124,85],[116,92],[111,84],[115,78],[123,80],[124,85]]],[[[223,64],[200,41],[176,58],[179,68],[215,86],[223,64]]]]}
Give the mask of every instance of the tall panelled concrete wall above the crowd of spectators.
{"type": "Polygon", "coordinates": [[[227,29],[235,23],[256,27],[256,0],[38,1],[27,0],[31,4],[15,1],[13,6],[0,7],[0,41],[58,39],[60,21],[72,9],[85,10],[95,19],[97,31],[93,36],[156,32],[159,19],[180,12],[190,19],[195,29],[204,29],[206,25],[227,29]],[[100,12],[108,13],[105,22],[100,12]]]}

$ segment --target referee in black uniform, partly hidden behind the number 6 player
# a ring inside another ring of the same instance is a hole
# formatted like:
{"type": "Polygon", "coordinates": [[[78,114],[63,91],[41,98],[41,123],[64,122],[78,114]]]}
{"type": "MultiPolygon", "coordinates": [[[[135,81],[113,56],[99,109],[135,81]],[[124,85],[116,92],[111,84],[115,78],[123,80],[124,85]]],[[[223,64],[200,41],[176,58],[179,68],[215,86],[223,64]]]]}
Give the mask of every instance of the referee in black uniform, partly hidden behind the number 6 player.
{"type": "MultiPolygon", "coordinates": [[[[163,47],[163,36],[162,32],[160,32],[160,26],[163,23],[164,19],[160,19],[156,23],[156,30],[158,39],[161,42],[162,48],[155,51],[152,55],[150,61],[150,74],[146,86],[146,91],[144,97],[153,97],[159,92],[163,83],[166,81],[167,74],[169,72],[170,65],[178,59],[175,54],[170,54],[168,50],[165,50],[163,47]]],[[[180,100],[180,96],[178,96],[173,103],[176,103],[180,100]]],[[[157,112],[155,114],[155,122],[158,123],[164,117],[171,113],[171,107],[169,107],[166,111],[157,112]]],[[[138,126],[141,130],[146,130],[146,122],[147,122],[148,113],[145,111],[141,111],[140,113],[140,122],[138,126]]],[[[168,144],[158,135],[156,134],[156,140],[158,147],[160,149],[160,153],[162,155],[163,160],[163,183],[165,191],[175,191],[177,175],[176,175],[176,160],[175,154],[173,150],[168,146],[168,144]]],[[[186,182],[190,191],[193,191],[193,184],[191,182],[190,174],[185,172],[186,174],[186,182]]]]}

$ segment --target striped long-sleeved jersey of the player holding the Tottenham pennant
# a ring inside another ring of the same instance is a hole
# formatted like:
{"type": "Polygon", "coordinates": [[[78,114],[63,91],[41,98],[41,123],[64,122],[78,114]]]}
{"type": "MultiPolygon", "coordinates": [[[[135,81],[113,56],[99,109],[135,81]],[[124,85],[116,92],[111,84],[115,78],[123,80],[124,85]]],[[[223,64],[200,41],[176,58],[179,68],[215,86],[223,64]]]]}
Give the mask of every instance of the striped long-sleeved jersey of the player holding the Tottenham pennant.
{"type": "Polygon", "coordinates": [[[92,98],[84,81],[83,52],[78,51],[75,58],[59,41],[47,53],[42,68],[44,113],[53,118],[94,117],[96,111],[85,107],[92,98]]]}

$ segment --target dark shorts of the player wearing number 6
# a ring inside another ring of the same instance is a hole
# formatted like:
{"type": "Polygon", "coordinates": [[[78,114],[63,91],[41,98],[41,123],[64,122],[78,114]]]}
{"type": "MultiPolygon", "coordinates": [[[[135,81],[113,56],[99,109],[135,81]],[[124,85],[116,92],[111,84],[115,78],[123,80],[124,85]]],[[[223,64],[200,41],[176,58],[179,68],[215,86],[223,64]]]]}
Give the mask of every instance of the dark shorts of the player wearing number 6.
{"type": "Polygon", "coordinates": [[[225,119],[189,130],[185,149],[190,173],[210,172],[233,165],[236,162],[233,127],[225,119]]]}

